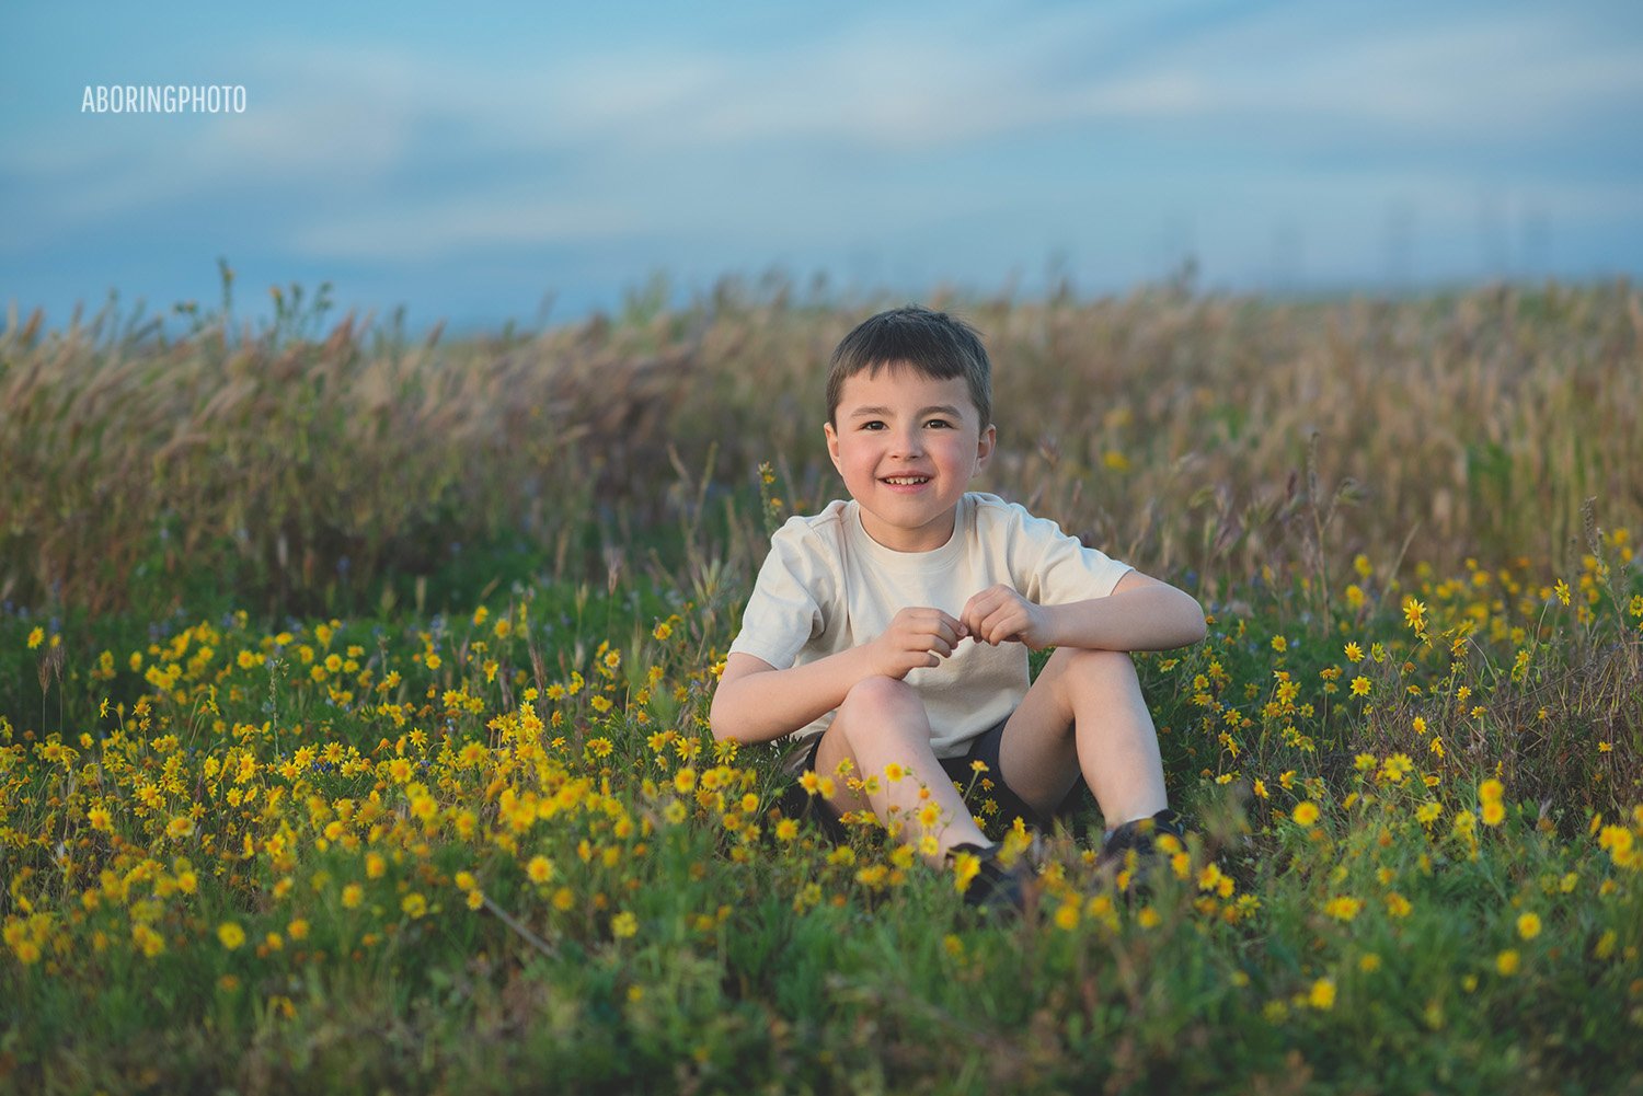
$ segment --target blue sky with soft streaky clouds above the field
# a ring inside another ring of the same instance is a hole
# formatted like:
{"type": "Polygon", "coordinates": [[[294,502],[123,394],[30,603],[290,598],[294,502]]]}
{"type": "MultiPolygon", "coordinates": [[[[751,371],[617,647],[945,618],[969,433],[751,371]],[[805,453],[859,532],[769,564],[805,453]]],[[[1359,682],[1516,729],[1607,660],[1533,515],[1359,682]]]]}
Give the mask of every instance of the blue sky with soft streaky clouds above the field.
{"type": "Polygon", "coordinates": [[[332,281],[531,324],[777,268],[918,297],[1643,273],[1643,5],[28,3],[0,306],[332,281]],[[82,113],[85,85],[243,113],[82,113]]]}

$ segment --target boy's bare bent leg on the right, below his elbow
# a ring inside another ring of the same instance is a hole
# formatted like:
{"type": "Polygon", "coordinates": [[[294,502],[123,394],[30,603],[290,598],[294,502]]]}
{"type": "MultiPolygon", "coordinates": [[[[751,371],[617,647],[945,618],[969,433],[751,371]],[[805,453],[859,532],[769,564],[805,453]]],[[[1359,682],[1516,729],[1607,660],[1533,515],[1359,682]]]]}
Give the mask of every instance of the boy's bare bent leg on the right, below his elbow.
{"type": "Polygon", "coordinates": [[[1109,827],[1170,805],[1158,735],[1122,651],[1061,647],[1004,725],[999,764],[1015,794],[1048,815],[1083,772],[1109,827]]]}

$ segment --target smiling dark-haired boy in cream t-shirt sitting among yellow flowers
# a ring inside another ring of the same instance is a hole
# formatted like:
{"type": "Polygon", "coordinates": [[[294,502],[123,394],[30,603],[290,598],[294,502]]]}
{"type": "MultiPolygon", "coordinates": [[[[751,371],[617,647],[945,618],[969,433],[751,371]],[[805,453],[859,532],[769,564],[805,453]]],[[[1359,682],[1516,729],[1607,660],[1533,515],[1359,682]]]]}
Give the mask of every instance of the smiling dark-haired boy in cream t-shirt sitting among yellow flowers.
{"type": "Polygon", "coordinates": [[[715,738],[794,735],[820,774],[848,761],[866,785],[831,785],[831,810],[902,822],[933,864],[978,856],[1004,900],[1019,879],[953,785],[976,761],[1004,822],[1042,827],[1083,774],[1107,825],[1125,823],[1104,854],[1145,848],[1153,825],[1180,833],[1127,652],[1203,639],[1198,601],[968,491],[996,439],[991,363],[968,324],[881,312],[835,350],[826,393],[851,501],[771,539],[713,695],[715,738]],[[1050,646],[1029,687],[1027,652],[1050,646]],[[925,830],[932,802],[945,825],[925,830]]]}

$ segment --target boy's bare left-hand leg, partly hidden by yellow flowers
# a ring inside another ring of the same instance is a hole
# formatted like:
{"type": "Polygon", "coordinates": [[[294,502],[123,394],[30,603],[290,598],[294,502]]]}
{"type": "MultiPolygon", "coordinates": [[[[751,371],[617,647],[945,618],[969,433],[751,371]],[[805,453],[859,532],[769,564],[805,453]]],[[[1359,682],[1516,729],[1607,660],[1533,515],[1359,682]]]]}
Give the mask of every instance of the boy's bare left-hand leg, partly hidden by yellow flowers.
{"type": "Polygon", "coordinates": [[[828,799],[838,810],[871,807],[881,822],[900,820],[900,840],[917,843],[923,836],[918,810],[933,802],[941,808],[935,830],[937,851],[927,856],[933,864],[941,864],[955,845],[987,845],[930,748],[930,716],[918,692],[907,682],[869,677],[849,690],[817,749],[817,774],[836,779],[838,764],[845,759],[863,781],[877,777],[877,789],[863,797],[838,781],[828,799]],[[891,764],[899,764],[907,776],[886,779],[884,771],[891,764]],[[920,784],[928,789],[928,797],[920,795],[920,784]]]}

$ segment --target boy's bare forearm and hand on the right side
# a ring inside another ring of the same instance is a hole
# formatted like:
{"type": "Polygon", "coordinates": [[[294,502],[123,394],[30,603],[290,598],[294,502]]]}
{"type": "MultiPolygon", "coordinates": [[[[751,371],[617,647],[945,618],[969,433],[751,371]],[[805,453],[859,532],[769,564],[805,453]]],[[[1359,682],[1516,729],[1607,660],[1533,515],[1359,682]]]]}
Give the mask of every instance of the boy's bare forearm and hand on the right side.
{"type": "Polygon", "coordinates": [[[978,642],[1014,641],[1030,649],[1168,651],[1204,638],[1198,598],[1132,570],[1104,598],[1033,605],[1009,587],[973,596],[960,619],[978,642]]]}

